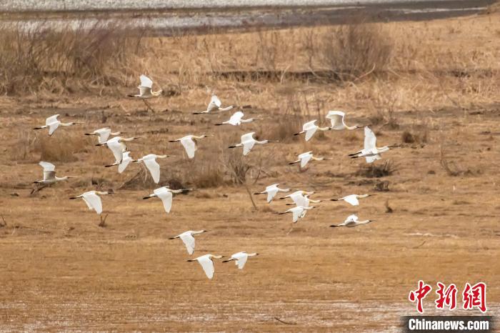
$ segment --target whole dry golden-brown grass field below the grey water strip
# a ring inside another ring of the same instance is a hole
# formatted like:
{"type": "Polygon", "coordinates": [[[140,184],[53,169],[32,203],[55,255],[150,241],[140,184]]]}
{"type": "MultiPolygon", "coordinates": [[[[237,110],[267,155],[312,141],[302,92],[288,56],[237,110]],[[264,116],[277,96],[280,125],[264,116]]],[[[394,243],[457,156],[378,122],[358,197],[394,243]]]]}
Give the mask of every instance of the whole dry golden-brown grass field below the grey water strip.
{"type": "MultiPolygon", "coordinates": [[[[416,314],[407,296],[419,279],[460,290],[486,282],[489,314],[500,313],[498,10],[197,36],[2,32],[2,332],[398,331],[401,315],[416,314]],[[154,112],[125,97],[141,73],[166,90],[154,112]],[[214,124],[231,112],[191,114],[206,108],[209,89],[264,120],[229,128],[214,124]],[[327,124],[330,109],[399,149],[370,168],[347,156],[361,149],[362,130],[293,136],[305,121],[327,124]],[[51,137],[32,129],[52,114],[84,124],[51,137]],[[176,155],[159,161],[160,184],[194,191],[174,197],[170,214],[142,200],[156,186],[144,167],[104,168],[111,151],[84,136],[104,126],[141,137],[129,144],[134,158],[176,155]],[[244,157],[227,149],[249,131],[280,142],[244,157]],[[169,143],[186,134],[214,136],[188,160],[169,143]],[[288,165],[309,150],[334,159],[288,165]],[[78,178],[31,194],[41,160],[78,178]],[[249,197],[274,183],[326,201],[291,229],[276,214],[284,200],[249,197]],[[105,227],[69,200],[91,189],[116,192],[103,197],[105,227]],[[359,207],[329,201],[354,193],[376,196],[359,207]],[[376,222],[329,228],[354,213],[376,222]],[[194,256],[261,255],[242,271],[218,261],[206,279],[179,239],[168,240],[189,229],[209,230],[194,256]]],[[[433,301],[434,290],[426,313],[433,301]]]]}

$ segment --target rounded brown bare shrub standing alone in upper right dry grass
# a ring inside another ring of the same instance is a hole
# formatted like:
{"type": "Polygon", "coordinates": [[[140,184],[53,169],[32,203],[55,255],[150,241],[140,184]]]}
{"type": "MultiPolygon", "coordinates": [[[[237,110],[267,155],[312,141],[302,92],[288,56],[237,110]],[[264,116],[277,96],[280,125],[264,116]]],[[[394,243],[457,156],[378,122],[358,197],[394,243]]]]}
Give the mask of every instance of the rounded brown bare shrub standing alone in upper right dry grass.
{"type": "Polygon", "coordinates": [[[380,24],[337,26],[325,34],[319,47],[321,63],[336,74],[358,77],[382,71],[391,59],[393,43],[380,24]]]}

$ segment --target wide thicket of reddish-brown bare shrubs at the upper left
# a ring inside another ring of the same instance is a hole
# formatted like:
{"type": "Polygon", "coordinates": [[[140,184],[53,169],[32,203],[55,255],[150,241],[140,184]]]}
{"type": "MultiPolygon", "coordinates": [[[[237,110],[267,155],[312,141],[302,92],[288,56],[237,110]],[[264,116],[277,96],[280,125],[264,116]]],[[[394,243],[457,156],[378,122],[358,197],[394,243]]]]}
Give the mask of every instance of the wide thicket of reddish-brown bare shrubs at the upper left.
{"type": "Polygon", "coordinates": [[[137,30],[97,21],[92,26],[46,23],[0,29],[0,93],[51,92],[110,86],[122,79],[126,62],[139,51],[137,30]],[[119,67],[120,71],[117,71],[119,67]],[[76,85],[75,79],[84,84],[76,85]]]}

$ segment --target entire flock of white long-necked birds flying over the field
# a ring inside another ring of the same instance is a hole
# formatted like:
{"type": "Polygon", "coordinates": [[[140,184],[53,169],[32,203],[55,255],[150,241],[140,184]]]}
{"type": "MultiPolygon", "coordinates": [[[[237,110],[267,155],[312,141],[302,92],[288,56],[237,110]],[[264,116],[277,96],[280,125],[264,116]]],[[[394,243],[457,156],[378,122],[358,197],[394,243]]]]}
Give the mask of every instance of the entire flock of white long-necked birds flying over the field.
{"type": "MultiPolygon", "coordinates": [[[[141,84],[139,85],[139,94],[130,94],[128,95],[129,97],[134,97],[136,99],[141,99],[144,101],[146,106],[148,108],[151,108],[149,104],[146,102],[146,99],[151,99],[154,97],[161,96],[163,94],[163,90],[158,90],[158,91],[153,91],[152,90],[152,85],[153,81],[149,79],[145,75],[140,76],[140,82],[141,84]]],[[[209,102],[209,105],[206,107],[205,111],[198,111],[194,112],[194,114],[211,114],[214,111],[229,111],[231,109],[238,108],[238,106],[226,106],[223,107],[221,104],[220,99],[213,94],[211,96],[211,100],[209,102]]],[[[35,129],[49,129],[49,136],[54,134],[54,131],[59,128],[59,126],[72,126],[75,124],[82,124],[81,122],[77,121],[72,121],[69,123],[63,123],[59,121],[58,119],[59,114],[56,114],[54,116],[49,116],[49,118],[46,119],[45,125],[44,126],[39,126],[36,127],[35,129]]],[[[242,111],[236,111],[228,121],[224,121],[220,124],[215,124],[217,126],[221,125],[232,125],[232,126],[239,126],[241,124],[246,124],[251,121],[257,121],[257,120],[262,120],[262,119],[254,119],[254,118],[249,118],[249,119],[243,119],[244,114],[242,111]]],[[[326,115],[326,119],[329,119],[331,122],[331,126],[329,127],[319,127],[315,123],[317,120],[312,120],[306,122],[302,126],[302,131],[294,134],[294,135],[300,135],[300,134],[305,134],[305,140],[309,141],[316,131],[330,131],[330,130],[336,130],[336,131],[341,131],[341,130],[353,130],[353,129],[359,129],[361,128],[360,126],[347,126],[345,123],[345,114],[342,111],[329,111],[329,113],[326,115]]],[[[142,156],[139,159],[132,159],[130,156],[130,151],[126,147],[126,142],[128,141],[133,141],[135,139],[139,139],[138,137],[123,137],[119,136],[121,133],[119,131],[113,132],[109,127],[105,127],[103,129],[96,129],[95,131],[91,133],[86,133],[86,135],[92,135],[92,136],[97,136],[98,137],[98,144],[96,146],[107,146],[111,152],[114,155],[114,163],[106,165],[105,167],[114,167],[118,166],[118,172],[121,174],[124,172],[126,167],[130,164],[130,162],[136,162],[140,163],[143,162],[144,166],[149,170],[149,173],[151,174],[151,178],[155,182],[155,184],[158,184],[160,181],[160,165],[157,159],[166,159],[168,157],[172,157],[169,155],[156,155],[156,154],[148,154],[146,156],[142,156]],[[111,139],[109,139],[109,136],[114,136],[111,139]]],[[[254,139],[254,132],[250,132],[247,134],[243,134],[241,136],[241,142],[238,144],[234,144],[232,146],[229,146],[229,148],[236,148],[236,147],[243,147],[243,155],[247,155],[250,153],[251,149],[254,148],[255,144],[267,144],[269,142],[278,142],[278,141],[271,141],[271,140],[256,140],[254,139]]],[[[170,142],[180,142],[182,146],[184,146],[184,149],[186,151],[186,155],[188,156],[189,159],[194,158],[195,151],[197,149],[196,145],[196,140],[199,139],[204,139],[207,136],[211,136],[210,134],[204,134],[200,136],[195,136],[195,135],[187,135],[184,136],[180,139],[176,140],[171,140],[170,142]]],[[[382,147],[377,147],[376,146],[376,136],[371,129],[369,129],[368,126],[364,127],[364,148],[361,149],[360,151],[357,151],[354,154],[349,154],[351,158],[359,158],[359,157],[365,157],[367,163],[372,163],[376,161],[377,159],[381,159],[381,154],[389,151],[389,149],[394,148],[395,146],[382,146],[382,147]]],[[[304,168],[306,165],[309,163],[309,161],[322,161],[325,159],[330,159],[327,157],[321,157],[321,156],[314,156],[312,151],[306,151],[302,154],[299,154],[298,159],[296,161],[292,161],[289,164],[296,164],[300,163],[300,167],[304,168]]],[[[51,164],[46,161],[41,161],[39,165],[44,169],[44,179],[37,181],[35,183],[38,184],[54,184],[56,182],[64,181],[67,179],[71,179],[74,177],[70,176],[65,176],[65,177],[56,177],[56,167],[54,164],[51,164]]],[[[149,196],[144,197],[143,199],[150,199],[153,197],[158,197],[161,199],[161,202],[164,205],[164,209],[166,213],[169,213],[171,211],[172,207],[172,199],[174,197],[174,194],[179,194],[181,192],[188,192],[191,191],[191,189],[170,189],[169,187],[159,187],[158,189],[154,189],[152,194],[149,194],[149,196]]],[[[266,201],[268,203],[271,203],[271,201],[276,197],[276,194],[279,192],[291,192],[291,189],[281,189],[279,188],[279,184],[272,184],[262,192],[258,192],[255,194],[266,194],[267,199],[266,201]]],[[[114,192],[109,191],[109,192],[102,192],[102,191],[89,191],[85,192],[79,196],[76,197],[71,197],[69,199],[83,199],[84,202],[86,203],[87,207],[91,210],[94,210],[97,214],[101,214],[102,212],[102,202],[101,198],[99,196],[101,195],[106,195],[106,194],[113,194],[114,192]]],[[[306,192],[306,191],[296,191],[293,192],[289,195],[286,195],[285,197],[281,197],[279,199],[291,199],[293,204],[287,204],[287,205],[294,205],[291,209],[286,210],[286,212],[281,212],[279,214],[287,214],[291,213],[292,214],[292,222],[296,223],[299,221],[299,219],[303,219],[306,216],[306,212],[308,210],[314,209],[316,207],[310,206],[311,203],[317,204],[321,202],[322,200],[313,200],[309,199],[309,197],[314,194],[314,192],[306,192]]],[[[366,197],[369,197],[374,194],[351,194],[346,197],[342,197],[339,199],[331,199],[332,201],[344,201],[352,206],[358,206],[359,205],[359,199],[364,199],[366,197]]],[[[365,220],[365,221],[359,221],[358,217],[356,215],[350,215],[347,217],[347,219],[342,222],[341,224],[336,224],[336,225],[331,225],[330,227],[356,227],[361,224],[368,224],[372,222],[373,220],[365,220]]],[[[194,235],[196,234],[203,234],[204,232],[207,232],[206,230],[200,230],[200,231],[192,231],[189,230],[187,232],[183,232],[182,234],[177,235],[176,237],[172,237],[170,239],[181,239],[182,242],[184,242],[184,245],[186,246],[187,252],[191,255],[194,253],[194,248],[195,248],[195,239],[194,235]]],[[[238,266],[239,269],[243,269],[243,267],[246,264],[246,261],[249,257],[255,257],[258,255],[258,253],[246,253],[246,252],[238,252],[235,254],[232,254],[231,257],[228,260],[225,260],[224,262],[230,262],[234,261],[236,266],[238,266]]],[[[213,259],[221,259],[224,256],[217,256],[214,254],[205,254],[201,257],[197,257],[195,259],[189,259],[188,262],[199,262],[201,267],[204,269],[204,272],[206,274],[206,277],[211,279],[214,276],[214,261],[213,259]]]]}

